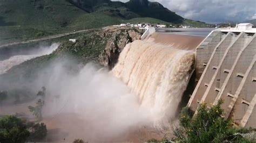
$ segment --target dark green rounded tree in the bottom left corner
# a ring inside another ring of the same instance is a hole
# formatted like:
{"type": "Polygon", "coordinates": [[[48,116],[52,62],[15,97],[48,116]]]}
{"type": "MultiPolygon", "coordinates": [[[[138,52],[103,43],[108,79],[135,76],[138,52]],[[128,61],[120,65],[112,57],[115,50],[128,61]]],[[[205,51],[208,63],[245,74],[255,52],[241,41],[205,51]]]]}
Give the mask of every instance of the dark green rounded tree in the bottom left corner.
{"type": "Polygon", "coordinates": [[[29,135],[24,120],[15,116],[0,118],[0,142],[25,142],[29,135]]]}

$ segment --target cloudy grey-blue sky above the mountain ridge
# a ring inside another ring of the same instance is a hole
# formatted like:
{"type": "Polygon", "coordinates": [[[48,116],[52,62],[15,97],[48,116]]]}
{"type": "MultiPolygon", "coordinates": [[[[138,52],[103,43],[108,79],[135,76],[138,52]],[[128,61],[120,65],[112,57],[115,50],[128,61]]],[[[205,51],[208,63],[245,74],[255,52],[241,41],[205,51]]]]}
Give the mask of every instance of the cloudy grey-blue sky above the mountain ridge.
{"type": "MultiPolygon", "coordinates": [[[[118,0],[113,0],[118,1],[118,0]]],[[[120,0],[127,2],[129,0],[120,0]]],[[[256,19],[256,0],[151,0],[184,18],[207,23],[243,22],[256,19]]]]}

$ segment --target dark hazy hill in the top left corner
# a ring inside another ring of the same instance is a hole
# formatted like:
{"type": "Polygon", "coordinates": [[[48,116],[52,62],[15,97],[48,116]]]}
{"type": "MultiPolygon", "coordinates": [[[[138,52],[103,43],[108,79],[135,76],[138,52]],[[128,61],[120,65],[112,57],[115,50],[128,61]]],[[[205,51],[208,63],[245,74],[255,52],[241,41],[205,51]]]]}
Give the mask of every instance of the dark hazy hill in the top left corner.
{"type": "Polygon", "coordinates": [[[33,26],[41,29],[65,27],[85,13],[64,0],[1,1],[2,26],[33,26]]]}

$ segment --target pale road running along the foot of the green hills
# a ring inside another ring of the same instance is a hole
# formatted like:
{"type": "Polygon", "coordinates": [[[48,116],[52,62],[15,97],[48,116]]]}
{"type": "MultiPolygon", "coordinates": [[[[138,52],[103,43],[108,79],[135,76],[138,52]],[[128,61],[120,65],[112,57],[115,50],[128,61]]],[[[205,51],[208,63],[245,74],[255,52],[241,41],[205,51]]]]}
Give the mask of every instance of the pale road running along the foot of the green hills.
{"type": "Polygon", "coordinates": [[[63,33],[63,34],[51,35],[49,37],[44,37],[44,38],[38,38],[38,39],[32,39],[32,40],[26,40],[26,41],[20,41],[20,42],[12,42],[9,44],[0,45],[0,48],[12,46],[12,45],[18,45],[18,44],[25,44],[25,43],[29,43],[29,42],[36,42],[36,41],[43,41],[43,40],[48,40],[48,39],[59,38],[59,37],[63,37],[66,35],[76,34],[76,33],[80,33],[80,32],[86,32],[86,31],[90,31],[90,30],[99,30],[99,29],[80,30],[80,31],[76,31],[76,32],[68,32],[68,33],[63,33]]]}

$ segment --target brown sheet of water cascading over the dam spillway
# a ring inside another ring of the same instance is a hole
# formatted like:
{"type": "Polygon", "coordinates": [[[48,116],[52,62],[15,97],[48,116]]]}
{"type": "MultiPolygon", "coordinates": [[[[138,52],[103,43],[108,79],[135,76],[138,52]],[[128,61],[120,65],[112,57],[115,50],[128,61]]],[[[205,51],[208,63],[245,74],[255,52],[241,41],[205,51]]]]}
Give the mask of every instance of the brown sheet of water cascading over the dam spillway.
{"type": "Polygon", "coordinates": [[[193,63],[193,51],[136,40],[125,46],[112,73],[130,87],[154,125],[159,125],[174,117],[193,63]]]}

